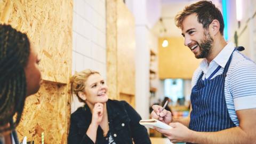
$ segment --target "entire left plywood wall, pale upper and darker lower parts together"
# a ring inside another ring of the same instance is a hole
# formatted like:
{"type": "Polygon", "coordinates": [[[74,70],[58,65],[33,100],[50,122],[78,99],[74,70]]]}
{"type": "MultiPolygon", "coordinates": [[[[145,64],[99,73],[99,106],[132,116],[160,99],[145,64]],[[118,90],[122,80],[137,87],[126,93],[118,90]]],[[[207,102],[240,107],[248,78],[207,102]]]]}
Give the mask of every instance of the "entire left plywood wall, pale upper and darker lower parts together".
{"type": "Polygon", "coordinates": [[[71,75],[73,1],[0,1],[0,22],[28,34],[41,62],[43,85],[26,100],[17,127],[20,140],[67,143],[70,117],[68,79],[71,75]]]}

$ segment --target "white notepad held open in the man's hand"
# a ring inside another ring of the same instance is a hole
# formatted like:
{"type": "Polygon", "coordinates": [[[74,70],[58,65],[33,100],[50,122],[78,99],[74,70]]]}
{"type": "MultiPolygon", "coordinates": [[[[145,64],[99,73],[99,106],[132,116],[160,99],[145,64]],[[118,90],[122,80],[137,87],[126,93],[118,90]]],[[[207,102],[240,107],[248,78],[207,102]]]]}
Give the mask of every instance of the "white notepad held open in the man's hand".
{"type": "Polygon", "coordinates": [[[144,125],[146,127],[149,127],[151,129],[154,129],[153,126],[159,127],[160,129],[172,129],[170,125],[167,125],[161,121],[158,121],[157,119],[142,119],[139,122],[141,125],[144,125]]]}

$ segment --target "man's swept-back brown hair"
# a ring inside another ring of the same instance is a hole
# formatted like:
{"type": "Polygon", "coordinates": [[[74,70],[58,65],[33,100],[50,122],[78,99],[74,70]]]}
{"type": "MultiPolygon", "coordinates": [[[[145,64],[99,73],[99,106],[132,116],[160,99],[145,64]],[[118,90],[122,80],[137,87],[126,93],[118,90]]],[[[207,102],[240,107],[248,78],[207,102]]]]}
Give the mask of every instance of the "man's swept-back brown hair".
{"type": "Polygon", "coordinates": [[[175,17],[175,23],[178,28],[182,27],[183,20],[190,14],[196,13],[197,21],[202,23],[204,29],[208,29],[213,20],[220,22],[220,33],[223,35],[224,21],[220,10],[212,4],[211,1],[199,1],[186,6],[181,13],[175,17]]]}

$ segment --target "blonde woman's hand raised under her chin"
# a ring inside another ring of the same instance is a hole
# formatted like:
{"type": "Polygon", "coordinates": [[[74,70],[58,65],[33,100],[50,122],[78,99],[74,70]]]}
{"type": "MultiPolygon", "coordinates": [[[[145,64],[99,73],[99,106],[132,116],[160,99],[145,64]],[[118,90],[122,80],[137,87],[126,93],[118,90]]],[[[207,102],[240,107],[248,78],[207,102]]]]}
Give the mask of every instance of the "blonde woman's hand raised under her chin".
{"type": "Polygon", "coordinates": [[[91,124],[99,125],[103,117],[103,107],[102,103],[95,103],[92,111],[92,122],[91,124]]]}

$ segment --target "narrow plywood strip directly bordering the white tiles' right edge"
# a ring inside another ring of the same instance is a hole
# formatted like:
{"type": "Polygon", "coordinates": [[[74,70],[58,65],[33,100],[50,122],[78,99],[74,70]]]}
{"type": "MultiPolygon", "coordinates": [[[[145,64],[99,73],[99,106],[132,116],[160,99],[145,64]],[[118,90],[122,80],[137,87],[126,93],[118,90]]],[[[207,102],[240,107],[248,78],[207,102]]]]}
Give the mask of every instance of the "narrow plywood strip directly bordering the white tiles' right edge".
{"type": "Polygon", "coordinates": [[[106,1],[107,11],[107,84],[108,97],[118,99],[117,92],[117,29],[116,29],[116,2],[106,1]]]}

